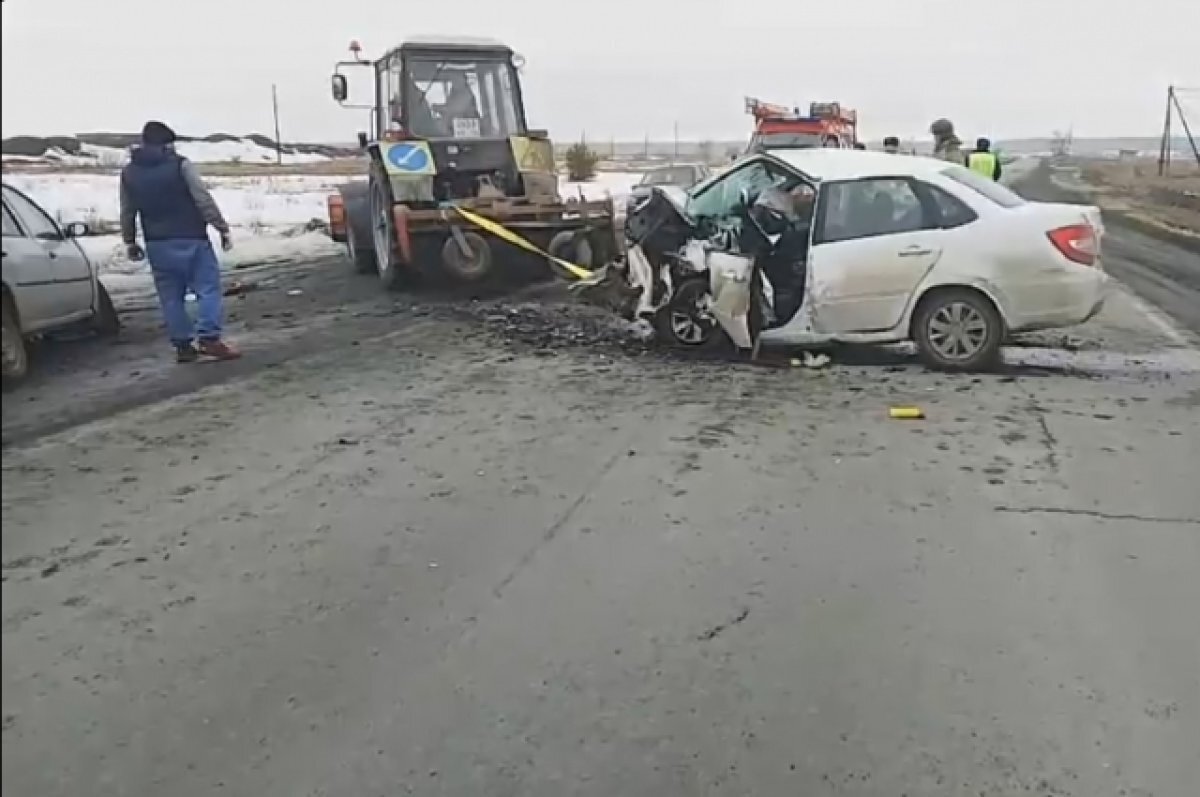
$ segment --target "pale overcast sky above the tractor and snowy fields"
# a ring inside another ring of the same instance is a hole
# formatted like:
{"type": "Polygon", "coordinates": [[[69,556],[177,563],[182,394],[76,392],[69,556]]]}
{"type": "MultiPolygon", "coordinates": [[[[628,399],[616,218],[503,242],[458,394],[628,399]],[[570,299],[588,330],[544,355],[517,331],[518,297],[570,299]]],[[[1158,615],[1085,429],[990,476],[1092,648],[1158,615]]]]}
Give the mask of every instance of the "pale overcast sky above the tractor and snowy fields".
{"type": "MultiPolygon", "coordinates": [[[[329,97],[352,38],[493,36],[526,56],[558,140],[743,139],[743,96],[859,109],[862,133],[1154,136],[1200,86],[1200,0],[5,0],[4,134],[134,131],[350,140],[329,97]],[[536,32],[535,32],[536,31],[536,32]]],[[[1200,126],[1200,94],[1188,100],[1200,126]],[[1194,110],[1193,110],[1194,109],[1194,110]]]]}

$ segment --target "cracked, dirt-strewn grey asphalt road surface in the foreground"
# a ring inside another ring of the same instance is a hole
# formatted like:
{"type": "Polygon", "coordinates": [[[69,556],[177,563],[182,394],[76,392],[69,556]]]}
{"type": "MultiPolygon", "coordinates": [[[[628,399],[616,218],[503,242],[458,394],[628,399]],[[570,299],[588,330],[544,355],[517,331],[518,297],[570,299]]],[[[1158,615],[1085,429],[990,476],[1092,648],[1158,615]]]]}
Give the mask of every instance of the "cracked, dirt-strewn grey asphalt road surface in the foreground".
{"type": "Polygon", "coordinates": [[[312,278],[6,397],[5,793],[1195,793],[1200,362],[1123,294],[949,377],[312,278]]]}

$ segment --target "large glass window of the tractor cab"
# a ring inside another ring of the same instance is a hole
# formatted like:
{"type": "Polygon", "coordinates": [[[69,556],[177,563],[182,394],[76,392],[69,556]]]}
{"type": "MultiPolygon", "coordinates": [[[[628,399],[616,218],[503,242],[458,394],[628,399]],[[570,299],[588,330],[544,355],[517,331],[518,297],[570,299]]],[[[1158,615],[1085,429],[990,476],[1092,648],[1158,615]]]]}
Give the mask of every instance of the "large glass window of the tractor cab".
{"type": "Polygon", "coordinates": [[[422,138],[520,136],[511,71],[506,60],[409,59],[406,128],[422,138]]]}

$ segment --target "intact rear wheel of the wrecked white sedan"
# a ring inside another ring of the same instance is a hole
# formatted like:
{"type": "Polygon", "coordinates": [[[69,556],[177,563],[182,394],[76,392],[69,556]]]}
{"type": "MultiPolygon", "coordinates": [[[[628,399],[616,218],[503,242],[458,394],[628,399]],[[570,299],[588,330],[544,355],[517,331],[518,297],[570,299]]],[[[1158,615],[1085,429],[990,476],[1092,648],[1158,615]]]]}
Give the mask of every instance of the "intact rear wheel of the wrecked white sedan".
{"type": "Polygon", "coordinates": [[[991,300],[977,290],[937,290],[922,299],[912,337],[931,368],[982,371],[1000,362],[1004,323],[991,300]]]}

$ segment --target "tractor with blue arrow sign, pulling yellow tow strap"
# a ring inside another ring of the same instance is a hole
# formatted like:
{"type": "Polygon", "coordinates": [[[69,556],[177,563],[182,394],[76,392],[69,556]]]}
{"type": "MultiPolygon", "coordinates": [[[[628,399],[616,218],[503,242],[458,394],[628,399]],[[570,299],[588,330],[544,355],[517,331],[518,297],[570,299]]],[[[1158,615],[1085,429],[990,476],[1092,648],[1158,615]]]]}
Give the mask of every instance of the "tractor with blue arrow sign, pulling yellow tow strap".
{"type": "Polygon", "coordinates": [[[526,122],[512,49],[438,38],[377,61],[356,42],[350,52],[331,89],[342,107],[370,109],[371,132],[358,134],[367,179],[329,197],[329,226],[359,271],[388,288],[481,286],[528,277],[530,262],[563,274],[564,262],[590,269],[616,254],[612,200],[559,196],[553,144],[526,122]],[[372,71],[370,102],[350,98],[356,68],[372,71]]]}

